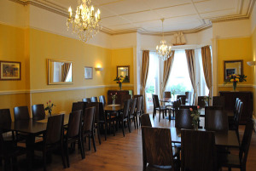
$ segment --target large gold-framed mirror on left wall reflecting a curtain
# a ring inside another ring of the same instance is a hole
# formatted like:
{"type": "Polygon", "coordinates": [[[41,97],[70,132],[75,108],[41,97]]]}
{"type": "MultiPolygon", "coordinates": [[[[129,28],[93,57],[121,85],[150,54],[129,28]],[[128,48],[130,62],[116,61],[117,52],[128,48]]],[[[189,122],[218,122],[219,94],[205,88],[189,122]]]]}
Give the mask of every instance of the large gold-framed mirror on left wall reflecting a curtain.
{"type": "Polygon", "coordinates": [[[73,62],[48,60],[48,84],[73,83],[73,62]]]}

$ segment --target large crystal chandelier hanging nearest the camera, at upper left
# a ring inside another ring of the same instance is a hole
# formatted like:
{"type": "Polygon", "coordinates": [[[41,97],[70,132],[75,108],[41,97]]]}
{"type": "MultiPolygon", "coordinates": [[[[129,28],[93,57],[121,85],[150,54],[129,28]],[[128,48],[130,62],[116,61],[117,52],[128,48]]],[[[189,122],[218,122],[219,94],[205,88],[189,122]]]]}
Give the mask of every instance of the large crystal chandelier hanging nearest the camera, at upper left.
{"type": "Polygon", "coordinates": [[[72,16],[72,9],[69,7],[69,17],[67,19],[67,30],[72,25],[73,33],[79,35],[79,38],[84,43],[94,37],[96,33],[102,29],[99,25],[101,21],[101,11],[94,11],[93,6],[90,6],[90,0],[79,0],[75,17],[72,16]]]}

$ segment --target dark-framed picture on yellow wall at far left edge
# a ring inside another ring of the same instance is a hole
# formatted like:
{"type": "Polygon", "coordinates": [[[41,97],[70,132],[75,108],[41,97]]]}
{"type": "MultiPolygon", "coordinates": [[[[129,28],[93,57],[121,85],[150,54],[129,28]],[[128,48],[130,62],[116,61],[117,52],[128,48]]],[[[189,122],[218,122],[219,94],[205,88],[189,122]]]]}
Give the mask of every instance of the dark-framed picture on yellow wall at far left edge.
{"type": "Polygon", "coordinates": [[[20,62],[0,60],[0,80],[20,80],[20,62]]]}

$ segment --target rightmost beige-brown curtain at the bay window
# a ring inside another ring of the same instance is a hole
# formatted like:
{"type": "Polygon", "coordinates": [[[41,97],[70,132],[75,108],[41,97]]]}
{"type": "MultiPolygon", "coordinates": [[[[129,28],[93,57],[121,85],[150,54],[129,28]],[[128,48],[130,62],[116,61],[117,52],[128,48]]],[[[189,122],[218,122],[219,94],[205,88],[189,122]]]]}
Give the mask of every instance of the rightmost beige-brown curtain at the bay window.
{"type": "Polygon", "coordinates": [[[201,48],[201,60],[207,88],[209,88],[209,96],[212,97],[212,55],[209,46],[201,48]]]}

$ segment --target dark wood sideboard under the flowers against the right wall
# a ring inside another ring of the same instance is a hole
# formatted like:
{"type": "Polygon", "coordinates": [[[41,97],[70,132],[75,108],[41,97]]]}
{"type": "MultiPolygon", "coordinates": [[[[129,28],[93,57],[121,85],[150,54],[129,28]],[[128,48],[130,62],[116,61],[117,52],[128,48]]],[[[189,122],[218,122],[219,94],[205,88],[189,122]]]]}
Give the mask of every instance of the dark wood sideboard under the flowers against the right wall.
{"type": "Polygon", "coordinates": [[[249,91],[220,91],[220,96],[224,96],[226,110],[234,110],[236,104],[236,98],[239,98],[243,102],[241,111],[240,124],[246,124],[248,118],[252,118],[253,114],[253,92],[249,91]]]}

